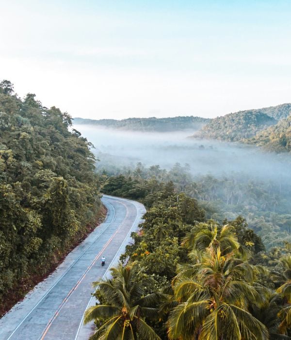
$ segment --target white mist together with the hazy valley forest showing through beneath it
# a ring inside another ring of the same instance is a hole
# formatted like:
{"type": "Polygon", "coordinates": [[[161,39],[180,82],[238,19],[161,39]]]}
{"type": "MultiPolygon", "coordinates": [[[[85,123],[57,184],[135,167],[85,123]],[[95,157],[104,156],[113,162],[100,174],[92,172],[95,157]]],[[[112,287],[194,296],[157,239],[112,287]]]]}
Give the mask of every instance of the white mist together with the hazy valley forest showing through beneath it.
{"type": "Polygon", "coordinates": [[[267,248],[291,242],[291,157],[258,147],[189,138],[194,131],[145,133],[98,126],[74,128],[95,145],[98,173],[155,175],[199,200],[207,218],[243,216],[267,248]],[[141,162],[142,165],[137,163],[141,162]],[[178,163],[178,164],[177,164],[178,163]],[[167,170],[164,172],[162,169],[167,170]]]}

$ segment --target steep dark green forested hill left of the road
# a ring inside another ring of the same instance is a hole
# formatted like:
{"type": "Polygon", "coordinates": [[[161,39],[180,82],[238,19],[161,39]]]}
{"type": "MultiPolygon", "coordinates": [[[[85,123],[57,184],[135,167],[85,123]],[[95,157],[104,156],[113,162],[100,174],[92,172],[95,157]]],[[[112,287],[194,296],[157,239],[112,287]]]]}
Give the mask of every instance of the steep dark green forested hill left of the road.
{"type": "Polygon", "coordinates": [[[91,145],[70,125],[67,113],[0,83],[0,301],[50,270],[100,208],[91,145]]]}

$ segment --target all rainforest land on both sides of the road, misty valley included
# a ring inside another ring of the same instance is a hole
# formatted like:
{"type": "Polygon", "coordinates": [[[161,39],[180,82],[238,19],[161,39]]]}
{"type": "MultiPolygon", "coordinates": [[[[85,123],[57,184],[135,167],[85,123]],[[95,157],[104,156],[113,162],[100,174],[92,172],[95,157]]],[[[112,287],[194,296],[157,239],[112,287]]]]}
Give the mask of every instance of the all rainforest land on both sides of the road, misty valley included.
{"type": "Polygon", "coordinates": [[[88,125],[2,81],[2,313],[94,230],[103,193],[146,214],[94,282],[90,339],[291,339],[286,110],[88,125]]]}

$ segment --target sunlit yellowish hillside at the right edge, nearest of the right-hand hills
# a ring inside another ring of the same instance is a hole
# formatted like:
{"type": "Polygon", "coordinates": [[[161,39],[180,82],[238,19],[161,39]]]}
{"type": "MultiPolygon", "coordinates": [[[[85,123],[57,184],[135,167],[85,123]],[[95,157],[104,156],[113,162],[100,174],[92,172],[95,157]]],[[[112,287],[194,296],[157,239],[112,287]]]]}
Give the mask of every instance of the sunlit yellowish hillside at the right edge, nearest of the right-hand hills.
{"type": "Polygon", "coordinates": [[[291,152],[291,115],[276,125],[258,132],[247,142],[270,151],[291,152]]]}

